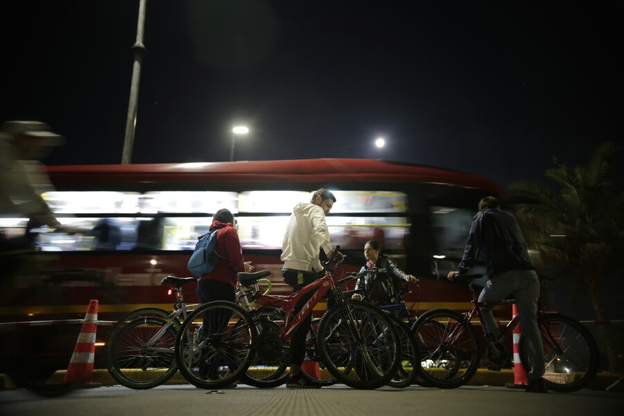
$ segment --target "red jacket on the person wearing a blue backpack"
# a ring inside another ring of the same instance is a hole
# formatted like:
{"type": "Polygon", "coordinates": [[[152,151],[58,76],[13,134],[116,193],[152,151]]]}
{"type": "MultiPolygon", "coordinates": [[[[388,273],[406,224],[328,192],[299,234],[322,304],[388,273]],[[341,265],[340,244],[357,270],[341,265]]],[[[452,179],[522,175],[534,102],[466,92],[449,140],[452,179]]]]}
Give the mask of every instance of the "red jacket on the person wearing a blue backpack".
{"type": "Polygon", "coordinates": [[[209,230],[213,228],[219,228],[214,249],[221,257],[225,258],[219,260],[214,270],[202,275],[200,280],[220,280],[221,282],[232,284],[236,288],[236,283],[238,282],[236,273],[245,271],[243,248],[241,247],[239,233],[236,233],[236,228],[229,222],[212,221],[209,230]]]}

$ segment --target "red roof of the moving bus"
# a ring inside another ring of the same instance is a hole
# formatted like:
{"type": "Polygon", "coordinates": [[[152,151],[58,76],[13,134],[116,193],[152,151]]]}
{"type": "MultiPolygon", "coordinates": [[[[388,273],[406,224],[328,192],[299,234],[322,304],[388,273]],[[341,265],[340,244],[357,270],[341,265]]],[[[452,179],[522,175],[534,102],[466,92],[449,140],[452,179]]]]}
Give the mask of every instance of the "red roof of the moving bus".
{"type": "Polygon", "coordinates": [[[210,163],[49,166],[62,183],[440,183],[494,194],[483,177],[424,165],[374,159],[300,159],[210,163]]]}

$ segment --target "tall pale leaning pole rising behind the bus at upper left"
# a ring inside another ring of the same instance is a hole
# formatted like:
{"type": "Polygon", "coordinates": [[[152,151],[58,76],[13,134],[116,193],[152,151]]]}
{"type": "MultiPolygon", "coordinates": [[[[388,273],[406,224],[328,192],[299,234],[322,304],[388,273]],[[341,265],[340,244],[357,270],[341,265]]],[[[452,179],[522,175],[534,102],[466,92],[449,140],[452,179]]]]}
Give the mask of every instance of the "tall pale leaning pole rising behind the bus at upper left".
{"type": "Polygon", "coordinates": [[[145,53],[143,33],[145,27],[145,6],[147,0],[139,1],[139,21],[137,23],[137,42],[132,45],[135,53],[135,64],[132,67],[132,82],[130,84],[130,101],[128,102],[128,117],[125,119],[125,138],[121,163],[130,163],[132,160],[132,145],[135,143],[135,127],[137,125],[137,102],[139,100],[139,79],[141,78],[141,62],[145,53]]]}

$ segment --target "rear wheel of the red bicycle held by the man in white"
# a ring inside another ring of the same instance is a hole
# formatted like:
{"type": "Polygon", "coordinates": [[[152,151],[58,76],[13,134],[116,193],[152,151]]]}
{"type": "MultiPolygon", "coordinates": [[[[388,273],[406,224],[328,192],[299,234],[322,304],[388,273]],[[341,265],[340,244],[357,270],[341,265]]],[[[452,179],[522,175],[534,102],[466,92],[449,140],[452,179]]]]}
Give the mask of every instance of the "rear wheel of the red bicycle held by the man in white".
{"type": "Polygon", "coordinates": [[[175,343],[180,374],[193,386],[221,388],[247,370],[255,354],[249,314],[234,302],[208,302],[184,321],[175,343]],[[207,324],[202,325],[203,318],[207,324]]]}

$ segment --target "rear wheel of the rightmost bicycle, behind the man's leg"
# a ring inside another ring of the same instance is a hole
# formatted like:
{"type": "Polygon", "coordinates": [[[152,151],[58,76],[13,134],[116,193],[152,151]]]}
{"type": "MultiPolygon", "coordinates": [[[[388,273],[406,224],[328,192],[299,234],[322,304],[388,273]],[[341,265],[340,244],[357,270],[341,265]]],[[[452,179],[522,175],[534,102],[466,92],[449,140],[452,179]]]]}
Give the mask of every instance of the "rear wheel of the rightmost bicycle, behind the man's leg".
{"type": "MultiPolygon", "coordinates": [[[[584,388],[598,370],[598,346],[578,320],[562,314],[544,313],[538,318],[544,344],[544,380],[548,390],[573,392],[584,388]]],[[[519,339],[520,360],[530,368],[525,336],[519,339]]]]}

